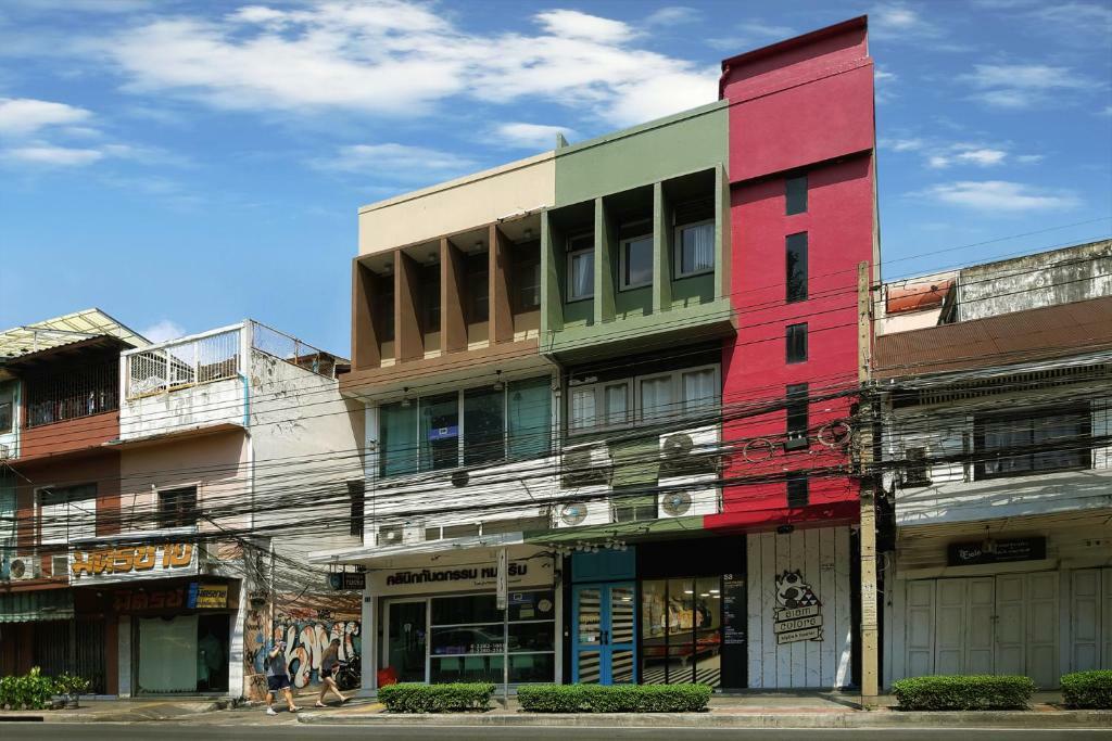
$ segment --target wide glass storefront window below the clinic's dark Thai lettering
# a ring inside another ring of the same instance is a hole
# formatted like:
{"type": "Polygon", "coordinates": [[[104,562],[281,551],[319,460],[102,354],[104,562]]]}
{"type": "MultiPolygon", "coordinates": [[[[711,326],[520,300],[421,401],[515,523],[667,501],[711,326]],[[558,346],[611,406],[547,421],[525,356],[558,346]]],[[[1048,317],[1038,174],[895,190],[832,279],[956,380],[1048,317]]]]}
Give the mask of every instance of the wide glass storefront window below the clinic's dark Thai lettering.
{"type": "Polygon", "coordinates": [[[510,592],[508,610],[494,594],[430,600],[429,677],[440,682],[552,682],[556,677],[553,592],[510,592]]]}

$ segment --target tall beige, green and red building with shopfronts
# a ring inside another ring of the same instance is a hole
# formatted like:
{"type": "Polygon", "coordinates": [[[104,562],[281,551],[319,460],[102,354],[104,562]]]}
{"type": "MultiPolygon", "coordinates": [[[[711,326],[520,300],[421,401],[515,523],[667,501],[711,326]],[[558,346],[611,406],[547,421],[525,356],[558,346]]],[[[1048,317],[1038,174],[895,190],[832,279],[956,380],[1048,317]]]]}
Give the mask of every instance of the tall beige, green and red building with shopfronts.
{"type": "Polygon", "coordinates": [[[865,36],[727,60],[717,102],[360,210],[365,541],[314,560],[367,570],[368,688],[853,681],[865,36]]]}

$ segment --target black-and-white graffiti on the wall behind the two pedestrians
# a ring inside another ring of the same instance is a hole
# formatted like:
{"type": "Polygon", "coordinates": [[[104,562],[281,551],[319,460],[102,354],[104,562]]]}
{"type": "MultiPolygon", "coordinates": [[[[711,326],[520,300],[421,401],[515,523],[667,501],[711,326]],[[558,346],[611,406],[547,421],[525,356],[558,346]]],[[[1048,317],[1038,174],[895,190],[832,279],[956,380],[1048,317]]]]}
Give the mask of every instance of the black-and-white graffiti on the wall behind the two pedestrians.
{"type": "MultiPolygon", "coordinates": [[[[294,687],[304,688],[320,681],[320,660],[332,639],[339,639],[340,661],[360,654],[361,624],[354,614],[358,613],[348,610],[331,613],[317,609],[286,609],[275,615],[271,638],[286,641],[286,667],[294,687]]],[[[255,630],[249,629],[249,662],[254,673],[261,674],[266,657],[265,629],[261,624],[256,625],[250,625],[255,630]]]]}

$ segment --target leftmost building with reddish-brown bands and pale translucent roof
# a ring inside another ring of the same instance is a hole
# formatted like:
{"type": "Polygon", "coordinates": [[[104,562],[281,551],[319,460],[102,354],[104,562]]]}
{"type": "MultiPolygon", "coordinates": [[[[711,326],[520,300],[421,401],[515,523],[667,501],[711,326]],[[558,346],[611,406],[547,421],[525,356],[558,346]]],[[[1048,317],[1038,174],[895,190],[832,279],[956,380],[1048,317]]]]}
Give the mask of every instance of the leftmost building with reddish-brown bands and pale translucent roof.
{"type": "Polygon", "coordinates": [[[0,673],[119,674],[116,625],[78,615],[69,543],[120,529],[120,351],[147,341],[98,309],[0,334],[0,673]]]}

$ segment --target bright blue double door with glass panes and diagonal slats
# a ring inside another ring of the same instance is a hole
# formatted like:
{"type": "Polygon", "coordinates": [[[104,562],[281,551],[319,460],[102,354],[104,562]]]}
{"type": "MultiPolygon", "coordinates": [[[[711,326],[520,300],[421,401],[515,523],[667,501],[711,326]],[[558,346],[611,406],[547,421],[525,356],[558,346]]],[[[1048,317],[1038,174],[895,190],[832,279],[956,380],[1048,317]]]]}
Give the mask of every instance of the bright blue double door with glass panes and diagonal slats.
{"type": "Polygon", "coordinates": [[[637,681],[636,593],[633,582],[575,588],[573,681],[585,684],[637,681]]]}

